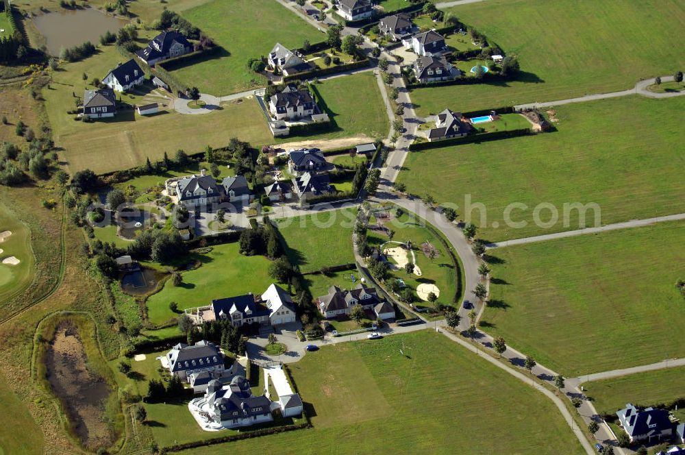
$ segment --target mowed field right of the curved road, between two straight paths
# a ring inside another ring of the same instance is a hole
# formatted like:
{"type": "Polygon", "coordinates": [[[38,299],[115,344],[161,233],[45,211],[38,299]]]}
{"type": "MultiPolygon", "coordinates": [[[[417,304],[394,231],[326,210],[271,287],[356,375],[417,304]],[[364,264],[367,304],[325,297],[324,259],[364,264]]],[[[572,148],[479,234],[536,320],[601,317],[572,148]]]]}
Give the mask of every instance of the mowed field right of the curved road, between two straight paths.
{"type": "Polygon", "coordinates": [[[482,328],[562,373],[685,356],[685,221],[488,251],[482,328]]]}

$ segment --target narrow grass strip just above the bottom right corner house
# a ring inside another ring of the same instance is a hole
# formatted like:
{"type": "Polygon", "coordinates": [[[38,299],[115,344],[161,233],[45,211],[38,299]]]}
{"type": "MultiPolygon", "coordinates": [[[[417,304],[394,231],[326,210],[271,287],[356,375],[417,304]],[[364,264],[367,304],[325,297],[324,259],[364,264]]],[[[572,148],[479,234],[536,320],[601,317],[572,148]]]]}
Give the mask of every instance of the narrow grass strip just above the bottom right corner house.
{"type": "MultiPolygon", "coordinates": [[[[598,413],[615,413],[626,403],[651,406],[683,397],[685,367],[647,371],[601,381],[586,382],[586,395],[593,398],[598,413]]],[[[681,421],[685,411],[679,410],[681,421]]]]}

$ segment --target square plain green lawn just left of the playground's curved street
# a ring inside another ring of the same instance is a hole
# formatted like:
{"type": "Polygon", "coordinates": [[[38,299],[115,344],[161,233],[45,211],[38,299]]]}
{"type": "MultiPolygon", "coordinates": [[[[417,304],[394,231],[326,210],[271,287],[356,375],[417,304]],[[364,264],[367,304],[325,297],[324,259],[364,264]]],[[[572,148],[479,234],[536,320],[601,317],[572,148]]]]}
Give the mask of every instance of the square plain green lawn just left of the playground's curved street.
{"type": "Polygon", "coordinates": [[[299,218],[273,220],[286,243],[286,255],[300,271],[350,264],[356,210],[346,208],[299,218]]]}

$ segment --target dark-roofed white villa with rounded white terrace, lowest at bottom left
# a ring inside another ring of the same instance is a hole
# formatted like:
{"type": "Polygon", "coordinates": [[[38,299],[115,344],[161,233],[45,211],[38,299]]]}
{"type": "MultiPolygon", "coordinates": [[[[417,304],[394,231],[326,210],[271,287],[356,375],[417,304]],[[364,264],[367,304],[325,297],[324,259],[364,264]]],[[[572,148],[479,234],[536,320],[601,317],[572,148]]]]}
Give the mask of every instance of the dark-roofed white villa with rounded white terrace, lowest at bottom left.
{"type": "Polygon", "coordinates": [[[235,376],[230,384],[212,380],[205,395],[193,399],[188,408],[206,430],[238,428],[273,421],[271,399],[252,395],[249,382],[235,376]]]}

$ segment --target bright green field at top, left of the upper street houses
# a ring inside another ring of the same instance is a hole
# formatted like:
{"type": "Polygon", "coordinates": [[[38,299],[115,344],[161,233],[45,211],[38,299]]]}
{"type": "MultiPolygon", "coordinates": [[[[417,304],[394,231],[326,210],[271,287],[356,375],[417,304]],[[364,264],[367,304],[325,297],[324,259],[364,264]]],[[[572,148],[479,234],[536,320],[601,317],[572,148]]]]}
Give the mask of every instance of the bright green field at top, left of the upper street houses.
{"type": "Polygon", "coordinates": [[[201,92],[217,96],[266,85],[266,78],[250,71],[247,61],[266,56],[277,42],[296,48],[304,40],[325,39],[323,33],[274,0],[214,0],[182,15],[223,52],[175,69],[173,74],[201,92]]]}

